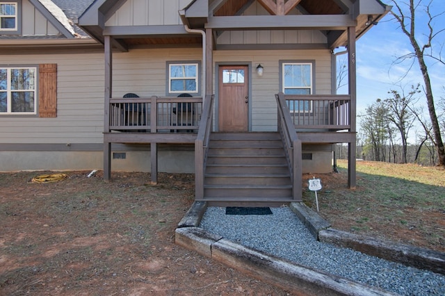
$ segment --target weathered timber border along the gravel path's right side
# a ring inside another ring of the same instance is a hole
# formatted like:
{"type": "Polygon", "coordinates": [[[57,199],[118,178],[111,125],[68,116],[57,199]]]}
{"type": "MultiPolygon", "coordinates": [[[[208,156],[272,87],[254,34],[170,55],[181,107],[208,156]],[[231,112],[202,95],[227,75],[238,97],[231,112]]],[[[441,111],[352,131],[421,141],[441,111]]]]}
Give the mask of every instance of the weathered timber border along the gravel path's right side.
{"type": "Polygon", "coordinates": [[[348,247],[364,254],[414,268],[445,274],[445,253],[332,229],[329,222],[302,202],[293,202],[290,208],[311,231],[312,235],[321,242],[348,247]]]}

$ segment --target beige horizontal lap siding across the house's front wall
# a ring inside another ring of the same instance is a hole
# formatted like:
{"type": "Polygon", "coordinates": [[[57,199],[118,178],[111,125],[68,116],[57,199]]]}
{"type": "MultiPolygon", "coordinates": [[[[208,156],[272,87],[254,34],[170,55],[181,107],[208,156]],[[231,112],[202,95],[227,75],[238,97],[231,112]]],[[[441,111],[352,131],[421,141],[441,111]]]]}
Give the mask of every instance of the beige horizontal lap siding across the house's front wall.
{"type": "MultiPolygon", "coordinates": [[[[134,92],[165,96],[166,62],[201,60],[201,49],[138,49],[113,54],[113,97],[134,92]]],[[[252,65],[252,130],[275,131],[275,94],[280,90],[280,60],[315,60],[316,94],[330,94],[330,52],[214,51],[214,63],[252,65]],[[264,76],[257,76],[257,65],[264,76]]],[[[3,56],[0,65],[57,63],[57,117],[0,115],[0,143],[102,143],[104,120],[103,54],[3,56]]],[[[215,77],[216,78],[216,77],[215,77]]],[[[216,89],[216,88],[215,88],[216,89]]]]}

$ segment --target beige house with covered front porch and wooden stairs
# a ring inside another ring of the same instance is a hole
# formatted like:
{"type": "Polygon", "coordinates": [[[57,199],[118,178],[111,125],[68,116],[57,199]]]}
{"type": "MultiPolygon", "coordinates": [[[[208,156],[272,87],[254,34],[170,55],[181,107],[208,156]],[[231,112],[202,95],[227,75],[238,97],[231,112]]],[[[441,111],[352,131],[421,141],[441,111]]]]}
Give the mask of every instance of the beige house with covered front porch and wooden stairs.
{"type": "Polygon", "coordinates": [[[301,199],[348,143],[379,0],[0,0],[0,170],[194,172],[196,199],[301,199]],[[349,94],[335,89],[348,50],[349,94]]]}

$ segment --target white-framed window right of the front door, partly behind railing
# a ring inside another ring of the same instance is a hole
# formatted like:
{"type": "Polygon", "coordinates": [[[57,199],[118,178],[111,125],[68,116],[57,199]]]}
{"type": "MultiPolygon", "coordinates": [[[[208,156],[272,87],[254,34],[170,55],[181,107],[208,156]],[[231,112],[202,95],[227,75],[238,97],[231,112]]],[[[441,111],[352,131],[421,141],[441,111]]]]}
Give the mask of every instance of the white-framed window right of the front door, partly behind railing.
{"type": "MultiPolygon", "coordinates": [[[[313,94],[312,63],[282,63],[281,70],[284,94],[313,94]]],[[[312,103],[309,100],[291,100],[288,106],[291,112],[312,111],[312,103]]]]}

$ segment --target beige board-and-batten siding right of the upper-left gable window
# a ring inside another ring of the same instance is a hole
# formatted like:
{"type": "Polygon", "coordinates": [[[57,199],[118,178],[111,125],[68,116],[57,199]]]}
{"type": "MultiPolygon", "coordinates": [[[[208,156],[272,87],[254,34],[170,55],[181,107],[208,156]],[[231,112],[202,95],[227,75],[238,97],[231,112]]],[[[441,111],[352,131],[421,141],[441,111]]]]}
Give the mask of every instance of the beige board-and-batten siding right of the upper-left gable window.
{"type": "Polygon", "coordinates": [[[60,35],[60,32],[48,22],[33,4],[22,1],[22,35],[60,35]]]}

